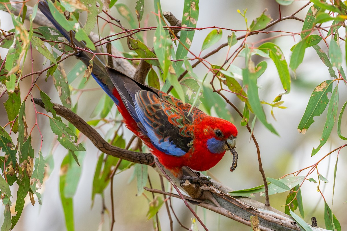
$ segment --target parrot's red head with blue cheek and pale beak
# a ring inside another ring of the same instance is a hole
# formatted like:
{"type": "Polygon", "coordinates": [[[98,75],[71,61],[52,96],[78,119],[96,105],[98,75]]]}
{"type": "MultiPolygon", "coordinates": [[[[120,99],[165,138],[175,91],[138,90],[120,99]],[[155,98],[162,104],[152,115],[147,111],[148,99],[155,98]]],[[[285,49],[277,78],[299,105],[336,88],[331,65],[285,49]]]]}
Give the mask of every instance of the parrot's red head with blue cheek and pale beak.
{"type": "Polygon", "coordinates": [[[200,125],[203,127],[203,133],[196,136],[203,136],[201,139],[206,140],[210,152],[224,153],[235,148],[237,128],[234,124],[225,119],[206,116],[200,125]]]}

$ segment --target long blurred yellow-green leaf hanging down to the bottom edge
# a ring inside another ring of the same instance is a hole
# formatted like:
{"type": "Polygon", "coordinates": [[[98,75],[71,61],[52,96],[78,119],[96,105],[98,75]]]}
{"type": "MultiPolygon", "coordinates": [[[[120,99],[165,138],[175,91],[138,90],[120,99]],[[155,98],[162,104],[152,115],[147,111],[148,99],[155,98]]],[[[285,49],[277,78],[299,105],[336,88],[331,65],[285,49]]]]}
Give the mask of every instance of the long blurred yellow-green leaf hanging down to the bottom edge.
{"type": "Polygon", "coordinates": [[[68,231],[74,231],[74,203],[73,198],[65,197],[66,174],[69,168],[71,155],[67,154],[60,166],[59,192],[68,231]]]}

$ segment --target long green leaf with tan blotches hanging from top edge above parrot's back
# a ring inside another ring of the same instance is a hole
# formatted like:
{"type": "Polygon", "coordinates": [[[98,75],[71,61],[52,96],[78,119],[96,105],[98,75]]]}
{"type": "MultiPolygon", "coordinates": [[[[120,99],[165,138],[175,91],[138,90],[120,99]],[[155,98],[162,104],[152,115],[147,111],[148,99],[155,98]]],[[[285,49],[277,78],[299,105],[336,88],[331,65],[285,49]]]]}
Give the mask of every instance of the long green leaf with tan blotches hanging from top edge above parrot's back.
{"type": "MultiPolygon", "coordinates": [[[[199,0],[185,0],[183,5],[182,23],[183,27],[196,28],[196,23],[199,18],[199,0]]],[[[195,30],[181,30],[180,31],[180,43],[176,50],[176,59],[184,59],[188,54],[188,50],[192,45],[195,30]]],[[[174,63],[174,69],[177,74],[181,74],[180,68],[183,61],[177,61],[174,63]]]]}

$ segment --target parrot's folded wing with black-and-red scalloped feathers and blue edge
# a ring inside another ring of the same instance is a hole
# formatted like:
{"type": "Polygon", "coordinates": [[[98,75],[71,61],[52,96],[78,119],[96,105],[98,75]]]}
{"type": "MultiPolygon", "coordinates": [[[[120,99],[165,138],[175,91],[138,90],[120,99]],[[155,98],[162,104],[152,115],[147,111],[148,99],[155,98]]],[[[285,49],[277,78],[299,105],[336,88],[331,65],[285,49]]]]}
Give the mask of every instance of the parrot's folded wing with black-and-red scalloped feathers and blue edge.
{"type": "Polygon", "coordinates": [[[139,127],[155,148],[173,156],[183,156],[192,147],[193,134],[189,126],[194,111],[188,115],[190,108],[189,104],[184,105],[181,100],[161,91],[142,90],[135,96],[139,127]]]}

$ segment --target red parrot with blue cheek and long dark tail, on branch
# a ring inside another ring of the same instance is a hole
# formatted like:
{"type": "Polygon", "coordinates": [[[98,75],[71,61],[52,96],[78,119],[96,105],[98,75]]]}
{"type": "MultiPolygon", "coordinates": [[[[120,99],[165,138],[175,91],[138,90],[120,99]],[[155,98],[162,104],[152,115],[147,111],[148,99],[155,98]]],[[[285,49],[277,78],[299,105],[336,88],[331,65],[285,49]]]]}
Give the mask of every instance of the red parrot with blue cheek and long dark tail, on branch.
{"type": "MultiPolygon", "coordinates": [[[[53,18],[45,0],[39,2],[39,9],[70,40],[69,33],[53,18]]],[[[74,44],[85,47],[75,38],[74,44]]],[[[88,52],[76,56],[87,66],[93,58],[88,52]]],[[[185,179],[183,166],[198,171],[212,168],[226,150],[233,152],[235,160],[237,128],[234,124],[209,116],[196,107],[189,114],[190,104],[105,66],[97,56],[93,63],[93,78],[115,102],[125,125],[176,177],[185,179]]]]}

